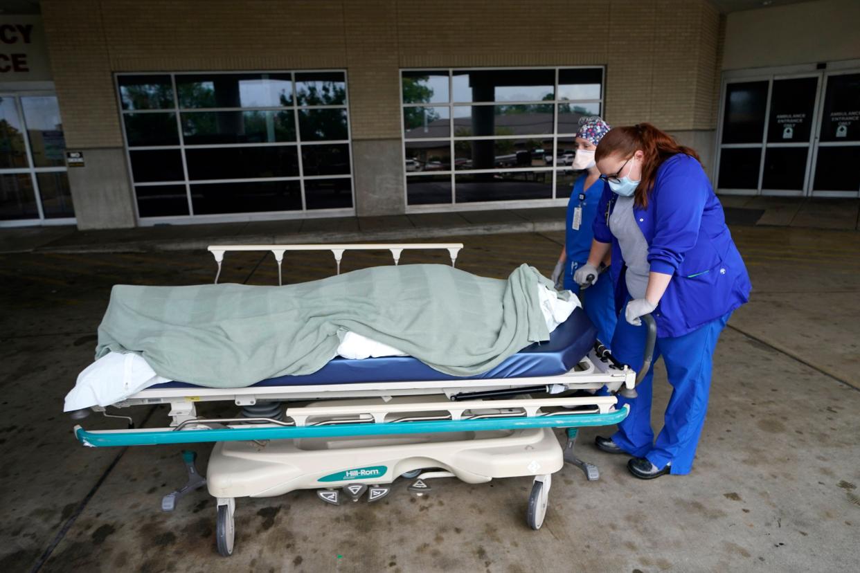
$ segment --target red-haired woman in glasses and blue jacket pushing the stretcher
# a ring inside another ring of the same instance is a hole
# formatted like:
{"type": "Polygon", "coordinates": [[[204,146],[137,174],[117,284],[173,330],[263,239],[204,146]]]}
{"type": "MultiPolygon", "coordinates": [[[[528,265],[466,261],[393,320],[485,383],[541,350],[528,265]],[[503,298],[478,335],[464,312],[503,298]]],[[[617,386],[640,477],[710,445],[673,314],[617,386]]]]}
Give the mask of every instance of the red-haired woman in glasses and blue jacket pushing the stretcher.
{"type": "Polygon", "coordinates": [[[587,264],[574,280],[585,283],[611,251],[620,313],[612,353],[634,369],[642,366],[640,317],[650,313],[657,323],[654,361],[663,357],[673,387],[656,440],[652,363],[638,397],[618,397],[619,405],[630,404],[630,415],[611,438],[595,442],[605,452],[634,456],[627,466],[637,478],[689,473],[708,409],[716,341],[732,311],[748,300],[749,276],[694,150],[640,124],[607,133],[595,159],[608,189],[587,264]]]}

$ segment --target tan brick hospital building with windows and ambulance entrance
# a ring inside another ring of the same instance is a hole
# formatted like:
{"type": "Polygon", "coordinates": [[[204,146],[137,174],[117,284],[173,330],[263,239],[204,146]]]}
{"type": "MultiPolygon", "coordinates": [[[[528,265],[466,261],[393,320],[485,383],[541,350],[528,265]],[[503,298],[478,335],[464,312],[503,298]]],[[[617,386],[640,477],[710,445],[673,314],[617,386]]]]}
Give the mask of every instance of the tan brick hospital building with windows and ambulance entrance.
{"type": "Polygon", "coordinates": [[[561,207],[584,116],[860,197],[857,0],[0,0],[0,227],[561,207]]]}

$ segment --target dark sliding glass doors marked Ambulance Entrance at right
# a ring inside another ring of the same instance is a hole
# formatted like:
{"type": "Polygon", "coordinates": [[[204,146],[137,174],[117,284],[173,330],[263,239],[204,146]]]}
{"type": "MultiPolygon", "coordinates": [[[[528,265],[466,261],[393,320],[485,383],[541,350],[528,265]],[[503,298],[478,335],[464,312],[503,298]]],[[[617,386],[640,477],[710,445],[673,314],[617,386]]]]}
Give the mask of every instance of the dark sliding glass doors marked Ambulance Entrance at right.
{"type": "Polygon", "coordinates": [[[727,79],[718,137],[718,192],[858,197],[860,72],[727,79]]]}

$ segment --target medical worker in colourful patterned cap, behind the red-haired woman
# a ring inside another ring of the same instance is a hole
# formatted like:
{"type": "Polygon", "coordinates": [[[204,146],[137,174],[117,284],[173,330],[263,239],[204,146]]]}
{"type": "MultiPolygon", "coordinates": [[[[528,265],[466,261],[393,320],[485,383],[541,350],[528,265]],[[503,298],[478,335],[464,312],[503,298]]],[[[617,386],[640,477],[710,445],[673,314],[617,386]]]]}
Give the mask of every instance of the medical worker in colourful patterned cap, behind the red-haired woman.
{"type": "Polygon", "coordinates": [[[615,311],[611,282],[600,281],[593,287],[580,291],[580,285],[574,282],[574,272],[586,264],[594,237],[594,216],[606,186],[605,182],[600,180],[600,172],[594,163],[594,151],[609,130],[609,125],[599,117],[580,119],[580,129],[576,132],[575,139],[576,155],[571,167],[585,173],[576,180],[573,192],[570,193],[564,227],[567,229],[564,247],[556,269],[552,272],[552,281],[556,283],[556,288],[573,290],[575,295],[581,297],[588,318],[597,328],[598,339],[607,347],[611,344],[618,315],[615,311]]]}

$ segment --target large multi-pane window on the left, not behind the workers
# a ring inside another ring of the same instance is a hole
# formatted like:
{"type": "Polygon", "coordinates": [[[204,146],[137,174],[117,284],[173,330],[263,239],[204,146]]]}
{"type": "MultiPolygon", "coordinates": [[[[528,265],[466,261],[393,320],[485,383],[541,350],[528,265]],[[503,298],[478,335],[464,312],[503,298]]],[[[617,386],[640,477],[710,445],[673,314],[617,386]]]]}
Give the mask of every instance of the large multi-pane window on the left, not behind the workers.
{"type": "Polygon", "coordinates": [[[353,210],[345,72],[120,74],[117,88],[142,219],[353,210]]]}

